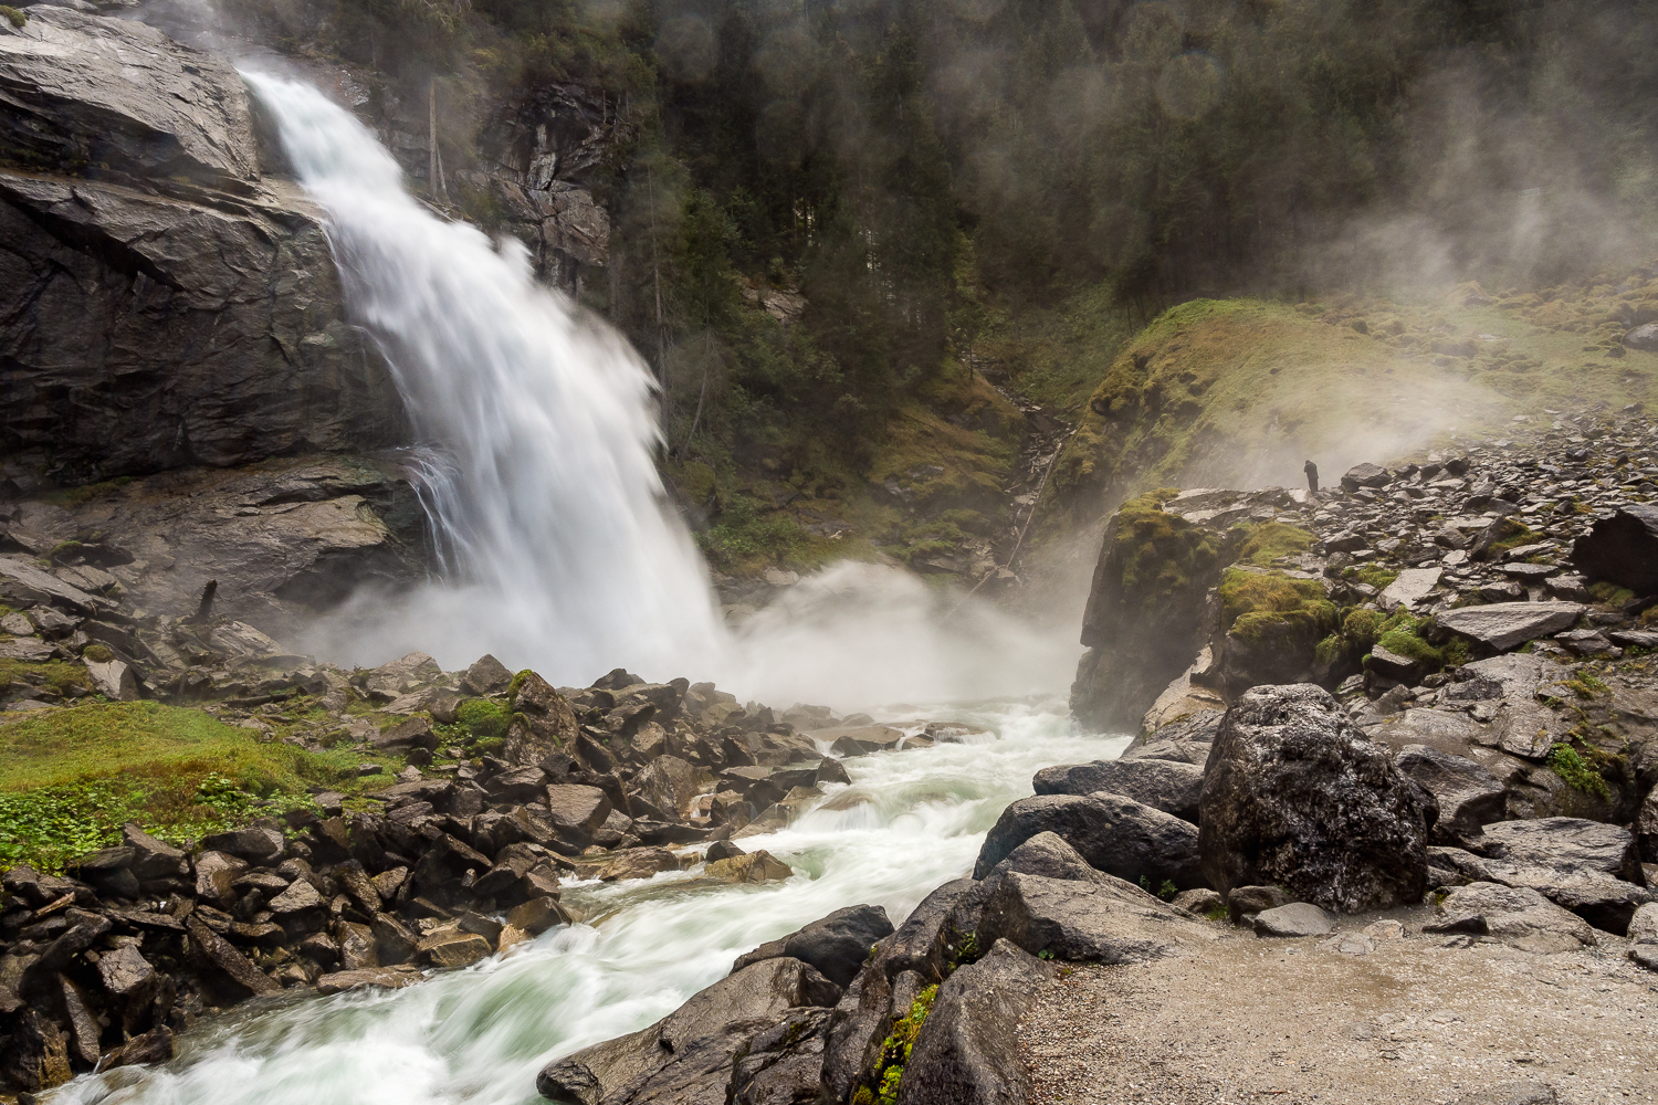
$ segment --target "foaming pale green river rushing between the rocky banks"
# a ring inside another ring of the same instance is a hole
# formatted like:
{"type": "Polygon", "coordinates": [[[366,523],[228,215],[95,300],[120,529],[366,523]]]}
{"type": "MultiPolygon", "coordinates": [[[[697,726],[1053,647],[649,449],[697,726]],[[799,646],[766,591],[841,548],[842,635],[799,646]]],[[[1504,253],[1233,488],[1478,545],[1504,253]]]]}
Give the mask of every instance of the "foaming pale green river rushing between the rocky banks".
{"type": "Polygon", "coordinates": [[[517,1105],[536,1074],[587,1044],[642,1029],[723,977],[731,961],[841,906],[879,903],[894,923],[973,866],[1001,808],[1050,764],[1113,757],[1126,737],[1076,736],[1063,702],[899,712],[995,732],[977,744],[846,760],[788,830],[749,837],[794,868],[768,885],[691,886],[700,868],[574,883],[589,923],[552,929],[464,971],[401,991],[245,1007],[179,1039],[164,1069],[80,1078],[50,1100],[93,1105],[517,1105]],[[854,797],[867,799],[856,802],[854,797]]]}

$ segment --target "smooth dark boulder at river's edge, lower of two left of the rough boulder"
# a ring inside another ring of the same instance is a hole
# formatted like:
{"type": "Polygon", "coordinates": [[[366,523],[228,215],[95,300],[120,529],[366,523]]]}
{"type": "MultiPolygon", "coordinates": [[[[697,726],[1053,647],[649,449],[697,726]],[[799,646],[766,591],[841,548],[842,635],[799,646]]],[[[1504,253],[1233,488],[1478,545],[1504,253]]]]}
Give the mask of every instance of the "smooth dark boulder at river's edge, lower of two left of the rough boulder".
{"type": "Polygon", "coordinates": [[[973,878],[985,878],[1010,852],[1041,832],[1058,833],[1108,875],[1154,888],[1204,886],[1197,828],[1190,822],[1114,794],[1036,795],[1010,803],[978,850],[973,878]]]}

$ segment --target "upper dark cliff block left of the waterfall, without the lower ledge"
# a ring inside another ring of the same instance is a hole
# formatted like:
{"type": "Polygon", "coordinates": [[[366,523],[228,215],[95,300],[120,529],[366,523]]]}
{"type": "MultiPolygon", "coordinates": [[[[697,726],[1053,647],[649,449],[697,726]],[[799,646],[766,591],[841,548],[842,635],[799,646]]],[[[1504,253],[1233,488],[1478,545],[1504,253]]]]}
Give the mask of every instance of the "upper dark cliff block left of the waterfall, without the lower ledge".
{"type": "Polygon", "coordinates": [[[260,176],[234,70],[35,7],[0,25],[0,451],[23,470],[78,484],[400,441],[317,210],[260,176]]]}

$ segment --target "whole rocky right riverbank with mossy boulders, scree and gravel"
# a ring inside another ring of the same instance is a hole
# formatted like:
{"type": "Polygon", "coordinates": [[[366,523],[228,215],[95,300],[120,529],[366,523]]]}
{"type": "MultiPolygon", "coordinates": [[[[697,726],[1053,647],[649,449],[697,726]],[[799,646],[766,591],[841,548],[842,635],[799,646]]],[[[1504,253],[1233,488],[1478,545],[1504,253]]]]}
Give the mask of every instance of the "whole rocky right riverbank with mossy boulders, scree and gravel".
{"type": "MultiPolygon", "coordinates": [[[[869,906],[831,914],[743,956],[658,1025],[547,1067],[537,1088],[580,1105],[1207,1100],[1295,1050],[1303,1077],[1270,1090],[1292,1100],[1330,1097],[1331,1074],[1305,1077],[1318,1064],[1343,1072],[1335,1100],[1633,1092],[1640,1047],[1554,1070],[1534,1055],[1539,1006],[1449,997],[1433,1025],[1515,1034],[1519,1057],[1457,1065],[1466,1040],[1447,1027],[1452,1059],[1356,1077],[1338,1047],[1209,1032],[1187,1055],[1106,1029],[1091,1039],[1117,1040],[1111,1062],[1068,1062],[1098,997],[1066,964],[1219,992],[1230,1011],[1252,999],[1217,991],[1200,964],[1255,969],[1255,941],[1300,941],[1275,944],[1255,984],[1285,1009],[1323,1001],[1308,986],[1403,989],[1374,979],[1389,959],[1418,977],[1587,971],[1585,994],[1603,979],[1628,1024],[1648,1016],[1653,427],[1623,413],[1532,429],[1360,466],[1333,492],[1131,502],[1106,533],[1073,691],[1084,721],[1141,731],[1121,759],[1038,772],[972,875],[897,929],[869,906]],[[1311,951],[1320,971],[1285,974],[1288,954],[1311,951]],[[1124,1047],[1156,1052],[1156,1069],[1122,1065],[1124,1047]],[[1527,1077],[1539,1069],[1557,1078],[1527,1077]]],[[[1345,1002],[1368,1016],[1353,1039],[1384,1039],[1376,1054],[1398,1059],[1428,1040],[1413,1027],[1423,999],[1345,1002]]],[[[1172,1030],[1166,1004],[1139,1001],[1108,1024],[1131,1016],[1172,1030]]]]}

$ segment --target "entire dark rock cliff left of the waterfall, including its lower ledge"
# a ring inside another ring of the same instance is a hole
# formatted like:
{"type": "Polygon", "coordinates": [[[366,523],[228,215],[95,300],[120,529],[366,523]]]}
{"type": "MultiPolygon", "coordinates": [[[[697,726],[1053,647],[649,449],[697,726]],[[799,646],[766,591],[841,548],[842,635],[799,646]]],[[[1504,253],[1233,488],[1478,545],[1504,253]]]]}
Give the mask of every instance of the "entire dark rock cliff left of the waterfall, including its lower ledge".
{"type": "Polygon", "coordinates": [[[403,408],[240,76],[143,23],[0,22],[5,552],[284,635],[421,573],[403,408]]]}

